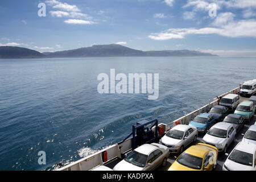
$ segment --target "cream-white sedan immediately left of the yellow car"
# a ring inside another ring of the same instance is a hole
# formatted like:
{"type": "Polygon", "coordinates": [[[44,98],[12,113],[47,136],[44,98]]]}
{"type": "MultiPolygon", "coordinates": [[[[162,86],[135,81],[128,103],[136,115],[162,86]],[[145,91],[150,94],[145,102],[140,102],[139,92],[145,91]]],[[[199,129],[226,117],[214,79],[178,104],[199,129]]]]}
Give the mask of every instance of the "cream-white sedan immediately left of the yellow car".
{"type": "Polygon", "coordinates": [[[161,165],[166,166],[168,156],[168,147],[162,144],[143,144],[135,148],[113,169],[114,171],[152,171],[161,165]]]}

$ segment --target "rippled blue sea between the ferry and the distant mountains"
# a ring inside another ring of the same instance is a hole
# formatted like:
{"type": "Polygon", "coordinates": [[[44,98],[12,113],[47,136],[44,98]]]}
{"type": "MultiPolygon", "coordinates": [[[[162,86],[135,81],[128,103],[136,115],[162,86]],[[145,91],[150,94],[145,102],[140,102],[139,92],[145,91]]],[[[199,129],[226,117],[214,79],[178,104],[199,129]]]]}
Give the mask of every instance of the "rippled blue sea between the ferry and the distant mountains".
{"type": "Polygon", "coordinates": [[[169,123],[256,78],[256,58],[97,57],[0,60],[0,170],[48,170],[127,137],[143,119],[169,123]],[[159,98],[100,94],[97,76],[159,73],[159,98]],[[39,165],[39,151],[46,165],[39,165]]]}

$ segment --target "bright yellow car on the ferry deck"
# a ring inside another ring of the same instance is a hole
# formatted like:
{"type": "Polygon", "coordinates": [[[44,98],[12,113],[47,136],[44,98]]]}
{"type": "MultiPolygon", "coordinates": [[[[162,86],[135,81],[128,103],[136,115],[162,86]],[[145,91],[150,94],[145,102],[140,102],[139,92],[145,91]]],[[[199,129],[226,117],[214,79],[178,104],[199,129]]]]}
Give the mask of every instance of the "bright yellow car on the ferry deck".
{"type": "Polygon", "coordinates": [[[218,149],[210,144],[197,143],[185,150],[168,171],[210,171],[216,167],[218,149]]]}

